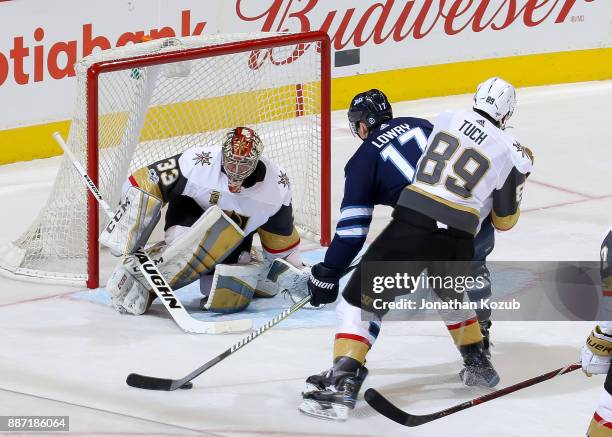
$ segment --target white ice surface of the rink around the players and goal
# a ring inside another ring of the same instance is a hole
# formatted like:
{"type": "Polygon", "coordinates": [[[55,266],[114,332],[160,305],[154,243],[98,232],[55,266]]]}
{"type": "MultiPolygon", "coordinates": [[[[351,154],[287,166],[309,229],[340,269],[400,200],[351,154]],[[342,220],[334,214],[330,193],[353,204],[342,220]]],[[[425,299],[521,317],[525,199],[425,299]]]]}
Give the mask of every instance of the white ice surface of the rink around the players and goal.
{"type": "MultiPolygon", "coordinates": [[[[433,119],[443,109],[468,107],[470,99],[393,106],[396,115],[433,119]]],[[[612,81],[520,89],[518,101],[513,132],[532,148],[536,162],[521,220],[511,232],[497,234],[490,259],[597,260],[612,224],[612,81]]],[[[342,169],[358,145],[344,111],[333,114],[332,143],[336,211],[342,169]]],[[[0,243],[35,216],[58,162],[0,167],[0,243]]],[[[389,212],[377,209],[370,239],[389,212]]],[[[125,384],[128,373],[181,377],[241,335],[187,335],[159,308],[148,316],[122,316],[102,292],[87,293],[0,278],[0,416],[69,415],[71,431],[80,435],[579,436],[603,385],[602,377],[574,372],[416,429],[389,421],[363,401],[345,423],[305,417],[297,411],[303,381],[331,364],[328,310],[302,311],[299,323],[272,329],[198,378],[192,390],[142,391],[125,384]]],[[[278,305],[266,314],[283,303],[278,305]]],[[[591,328],[590,322],[495,323],[500,386],[577,361],[591,328]]],[[[411,412],[486,393],[459,383],[460,359],[439,322],[386,323],[367,365],[364,389],[375,387],[411,412]]]]}

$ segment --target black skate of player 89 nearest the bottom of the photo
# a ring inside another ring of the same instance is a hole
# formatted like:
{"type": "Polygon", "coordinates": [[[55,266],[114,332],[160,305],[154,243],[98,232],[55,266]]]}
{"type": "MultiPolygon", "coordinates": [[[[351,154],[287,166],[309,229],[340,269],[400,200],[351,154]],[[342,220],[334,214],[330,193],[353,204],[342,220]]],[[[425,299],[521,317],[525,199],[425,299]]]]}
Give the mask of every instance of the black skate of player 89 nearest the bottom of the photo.
{"type": "Polygon", "coordinates": [[[304,401],[298,409],[309,416],[346,420],[367,375],[368,369],[359,361],[341,357],[331,369],[306,379],[304,401]]]}

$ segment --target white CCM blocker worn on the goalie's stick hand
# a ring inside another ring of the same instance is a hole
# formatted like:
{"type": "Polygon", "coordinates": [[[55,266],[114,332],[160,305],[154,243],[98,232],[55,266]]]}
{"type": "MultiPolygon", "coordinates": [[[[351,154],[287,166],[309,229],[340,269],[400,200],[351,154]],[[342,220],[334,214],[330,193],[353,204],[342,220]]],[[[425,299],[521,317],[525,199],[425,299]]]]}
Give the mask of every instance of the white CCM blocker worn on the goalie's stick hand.
{"type": "Polygon", "coordinates": [[[130,254],[145,245],[161,216],[157,197],[130,186],[119,209],[100,235],[100,243],[114,254],[130,254]]]}

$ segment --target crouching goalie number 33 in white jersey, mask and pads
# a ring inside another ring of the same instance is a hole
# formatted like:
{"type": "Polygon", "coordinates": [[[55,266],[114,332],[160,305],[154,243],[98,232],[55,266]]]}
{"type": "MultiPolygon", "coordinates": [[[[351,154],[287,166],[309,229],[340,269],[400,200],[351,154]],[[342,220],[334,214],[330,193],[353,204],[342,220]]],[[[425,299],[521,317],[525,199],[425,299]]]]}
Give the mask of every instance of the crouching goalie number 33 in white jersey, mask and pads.
{"type": "Polygon", "coordinates": [[[194,147],[129,176],[121,219],[100,237],[114,253],[127,254],[106,287],[116,310],[144,314],[155,299],[129,254],[147,242],[164,205],[165,239],[150,256],[175,289],[201,279],[206,310],[239,311],[253,296],[278,291],[264,279],[269,263],[251,262],[254,233],[267,260],[302,266],[289,178],[262,153],[259,136],[237,127],[219,148],[194,147]]]}

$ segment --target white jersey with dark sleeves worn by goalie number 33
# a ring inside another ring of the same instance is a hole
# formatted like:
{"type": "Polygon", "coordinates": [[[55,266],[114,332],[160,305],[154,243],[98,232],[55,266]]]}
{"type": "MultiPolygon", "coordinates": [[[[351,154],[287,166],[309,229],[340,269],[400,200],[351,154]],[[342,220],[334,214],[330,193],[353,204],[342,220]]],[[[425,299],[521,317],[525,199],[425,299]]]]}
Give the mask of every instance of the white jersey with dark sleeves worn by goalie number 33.
{"type": "Polygon", "coordinates": [[[177,228],[191,226],[218,206],[246,235],[257,232],[264,253],[284,257],[296,249],[299,235],[293,225],[291,188],[286,172],[262,157],[238,193],[228,187],[220,148],[197,147],[134,172],[128,185],[137,186],[168,203],[166,242],[177,228]]]}

